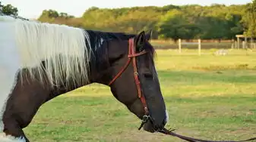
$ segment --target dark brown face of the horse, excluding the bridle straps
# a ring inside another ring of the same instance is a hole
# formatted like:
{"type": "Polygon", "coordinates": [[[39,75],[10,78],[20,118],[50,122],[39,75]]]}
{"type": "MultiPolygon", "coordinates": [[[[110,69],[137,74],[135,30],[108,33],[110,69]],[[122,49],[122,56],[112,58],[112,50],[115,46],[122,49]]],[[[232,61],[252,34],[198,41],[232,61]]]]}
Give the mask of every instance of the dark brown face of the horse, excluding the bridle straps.
{"type": "MultiPolygon", "coordinates": [[[[134,37],[136,53],[147,51],[136,57],[138,79],[141,82],[141,94],[144,95],[150,117],[144,125],[144,130],[154,132],[166,125],[168,115],[166,105],[160,91],[160,83],[153,63],[153,47],[148,42],[149,36],[141,32],[134,37]]],[[[106,46],[106,43],[103,46],[106,46]]],[[[107,43],[109,67],[102,73],[100,83],[108,83],[121,71],[128,60],[128,41],[112,40],[107,43]],[[104,80],[104,81],[103,81],[104,80]]],[[[112,94],[124,103],[128,110],[142,119],[145,114],[141,99],[138,97],[137,85],[134,79],[132,60],[121,76],[110,85],[112,94]]]]}

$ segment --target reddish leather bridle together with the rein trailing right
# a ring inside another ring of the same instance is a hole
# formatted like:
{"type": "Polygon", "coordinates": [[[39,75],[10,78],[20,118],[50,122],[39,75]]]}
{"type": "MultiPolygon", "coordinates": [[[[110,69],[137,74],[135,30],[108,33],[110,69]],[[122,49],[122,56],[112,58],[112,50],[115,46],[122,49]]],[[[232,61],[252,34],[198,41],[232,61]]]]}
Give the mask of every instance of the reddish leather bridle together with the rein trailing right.
{"type": "MultiPolygon", "coordinates": [[[[143,125],[148,122],[149,120],[151,122],[153,122],[152,118],[150,117],[149,114],[149,110],[147,108],[147,103],[146,103],[146,99],[144,97],[143,94],[141,94],[141,83],[139,81],[139,74],[137,73],[137,63],[136,63],[136,57],[141,56],[142,54],[146,54],[147,51],[141,51],[139,53],[135,53],[135,47],[134,47],[134,39],[129,39],[129,48],[128,48],[128,60],[125,63],[125,66],[122,66],[122,69],[119,71],[119,73],[116,74],[116,76],[112,79],[111,82],[109,82],[109,86],[112,85],[113,82],[115,82],[116,79],[119,78],[119,76],[122,75],[122,73],[124,73],[125,69],[127,69],[128,65],[131,63],[132,60],[132,66],[134,68],[134,80],[137,86],[137,95],[138,97],[141,99],[141,103],[144,107],[144,116],[142,118],[142,122],[141,122],[141,126],[138,128],[139,130],[141,130],[141,128],[143,127],[143,125]]],[[[175,134],[174,132],[172,132],[174,130],[167,130],[166,128],[163,128],[162,130],[158,130],[158,132],[163,133],[163,134],[167,134],[167,135],[171,135],[173,137],[179,137],[182,140],[187,140],[190,142],[242,142],[242,141],[251,141],[251,140],[256,140],[256,137],[248,139],[248,140],[239,140],[239,141],[214,141],[214,140],[201,140],[201,139],[196,139],[193,137],[186,137],[186,136],[182,136],[180,134],[175,134]]]]}

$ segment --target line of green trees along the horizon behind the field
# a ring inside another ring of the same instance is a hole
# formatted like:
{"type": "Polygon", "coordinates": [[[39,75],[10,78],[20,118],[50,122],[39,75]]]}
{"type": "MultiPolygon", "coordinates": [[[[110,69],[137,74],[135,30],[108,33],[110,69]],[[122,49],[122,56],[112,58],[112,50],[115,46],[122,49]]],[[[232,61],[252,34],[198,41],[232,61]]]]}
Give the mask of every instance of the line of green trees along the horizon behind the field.
{"type": "MultiPolygon", "coordinates": [[[[17,8],[1,5],[7,14],[17,8]]],[[[37,20],[107,32],[137,33],[153,29],[153,39],[234,39],[235,35],[256,36],[256,0],[247,5],[166,5],[133,8],[96,8],[74,17],[45,10],[37,20]]]]}

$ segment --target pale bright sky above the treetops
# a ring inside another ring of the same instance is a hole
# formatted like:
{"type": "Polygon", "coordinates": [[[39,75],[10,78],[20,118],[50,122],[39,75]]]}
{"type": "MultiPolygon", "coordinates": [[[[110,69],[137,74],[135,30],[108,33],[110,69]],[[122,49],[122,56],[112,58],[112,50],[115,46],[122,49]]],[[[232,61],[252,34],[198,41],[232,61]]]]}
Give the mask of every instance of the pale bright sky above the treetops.
{"type": "Polygon", "coordinates": [[[0,0],[3,5],[11,4],[18,8],[19,15],[24,18],[38,18],[43,10],[54,9],[75,17],[81,17],[84,11],[92,6],[98,8],[122,8],[134,6],[163,5],[238,5],[251,0],[0,0]],[[115,2],[116,1],[116,2],[115,2]]]}

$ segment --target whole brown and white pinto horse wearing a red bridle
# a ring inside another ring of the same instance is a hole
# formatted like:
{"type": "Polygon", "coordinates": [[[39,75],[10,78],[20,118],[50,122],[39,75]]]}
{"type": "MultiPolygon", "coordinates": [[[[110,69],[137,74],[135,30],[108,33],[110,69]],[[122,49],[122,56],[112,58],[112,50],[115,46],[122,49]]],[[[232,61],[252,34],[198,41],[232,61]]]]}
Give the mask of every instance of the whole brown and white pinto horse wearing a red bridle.
{"type": "Polygon", "coordinates": [[[6,16],[0,31],[0,141],[29,142],[22,129],[43,103],[92,83],[109,86],[145,131],[168,122],[150,32],[100,32],[6,16]]]}

